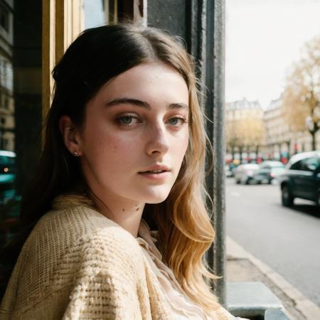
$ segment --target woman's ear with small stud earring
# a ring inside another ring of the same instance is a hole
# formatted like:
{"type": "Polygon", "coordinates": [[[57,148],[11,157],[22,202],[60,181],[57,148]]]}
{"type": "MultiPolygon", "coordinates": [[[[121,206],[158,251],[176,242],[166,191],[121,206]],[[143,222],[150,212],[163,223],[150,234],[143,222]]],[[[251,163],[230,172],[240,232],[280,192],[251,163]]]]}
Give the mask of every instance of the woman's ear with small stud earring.
{"type": "Polygon", "coordinates": [[[66,148],[73,156],[81,156],[82,150],[80,148],[80,137],[78,130],[73,125],[72,120],[67,115],[63,115],[59,119],[59,129],[63,137],[63,142],[66,148]]]}

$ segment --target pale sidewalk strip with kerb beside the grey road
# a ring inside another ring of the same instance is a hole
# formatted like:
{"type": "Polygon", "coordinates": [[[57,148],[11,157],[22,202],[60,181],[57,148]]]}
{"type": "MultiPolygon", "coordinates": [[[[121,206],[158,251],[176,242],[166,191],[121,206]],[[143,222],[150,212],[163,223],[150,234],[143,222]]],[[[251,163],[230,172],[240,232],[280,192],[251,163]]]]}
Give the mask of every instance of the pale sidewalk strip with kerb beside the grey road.
{"type": "Polygon", "coordinates": [[[259,281],[281,300],[291,320],[320,319],[320,308],[262,261],[227,237],[227,281],[259,281]]]}

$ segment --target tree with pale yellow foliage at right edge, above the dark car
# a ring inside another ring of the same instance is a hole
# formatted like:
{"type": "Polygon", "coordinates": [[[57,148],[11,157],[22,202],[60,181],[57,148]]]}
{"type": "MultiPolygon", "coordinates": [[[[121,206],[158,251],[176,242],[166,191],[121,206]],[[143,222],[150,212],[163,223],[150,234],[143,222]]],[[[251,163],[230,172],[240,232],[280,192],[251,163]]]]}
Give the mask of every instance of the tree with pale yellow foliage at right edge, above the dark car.
{"type": "Polygon", "coordinates": [[[282,103],[290,130],[307,129],[315,150],[316,132],[320,129],[320,37],[307,42],[302,58],[292,65],[282,103]]]}

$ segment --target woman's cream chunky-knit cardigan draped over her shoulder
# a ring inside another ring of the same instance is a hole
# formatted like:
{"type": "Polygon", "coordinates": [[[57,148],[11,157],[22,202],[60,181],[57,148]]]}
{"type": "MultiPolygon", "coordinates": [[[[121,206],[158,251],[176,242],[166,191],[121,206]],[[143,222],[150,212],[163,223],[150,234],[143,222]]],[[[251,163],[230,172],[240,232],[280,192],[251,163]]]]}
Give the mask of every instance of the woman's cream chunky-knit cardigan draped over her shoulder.
{"type": "MultiPolygon", "coordinates": [[[[85,201],[60,196],[26,240],[1,320],[173,319],[139,242],[85,201]]],[[[230,318],[222,307],[215,319],[230,318]]]]}

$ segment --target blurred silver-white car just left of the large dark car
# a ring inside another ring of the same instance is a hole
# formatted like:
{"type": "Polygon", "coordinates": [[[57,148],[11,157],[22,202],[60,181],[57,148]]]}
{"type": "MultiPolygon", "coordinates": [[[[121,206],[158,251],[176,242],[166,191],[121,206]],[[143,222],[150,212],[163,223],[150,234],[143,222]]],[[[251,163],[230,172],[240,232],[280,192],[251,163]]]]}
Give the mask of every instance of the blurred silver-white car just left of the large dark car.
{"type": "Polygon", "coordinates": [[[285,166],[280,161],[263,161],[259,165],[259,169],[255,172],[252,180],[255,183],[272,183],[274,178],[277,178],[285,171],[285,166]]]}

